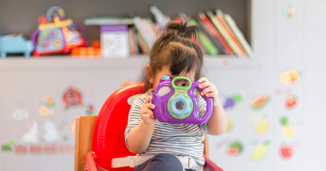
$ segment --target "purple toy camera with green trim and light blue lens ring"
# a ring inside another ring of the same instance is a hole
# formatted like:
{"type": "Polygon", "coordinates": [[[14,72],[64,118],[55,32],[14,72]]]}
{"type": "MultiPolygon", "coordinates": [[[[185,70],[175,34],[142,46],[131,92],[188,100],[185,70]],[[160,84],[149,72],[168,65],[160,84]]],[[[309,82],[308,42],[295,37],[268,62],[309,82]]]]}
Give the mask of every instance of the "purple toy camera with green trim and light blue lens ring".
{"type": "Polygon", "coordinates": [[[170,76],[162,76],[160,84],[157,85],[153,93],[152,104],[154,116],[160,122],[183,123],[201,125],[208,121],[213,113],[213,98],[205,97],[207,102],[207,111],[203,117],[199,117],[198,101],[194,95],[196,88],[199,88],[200,82],[191,81],[187,77],[176,77],[170,80],[170,76]],[[176,81],[187,82],[187,86],[177,86],[176,81]]]}

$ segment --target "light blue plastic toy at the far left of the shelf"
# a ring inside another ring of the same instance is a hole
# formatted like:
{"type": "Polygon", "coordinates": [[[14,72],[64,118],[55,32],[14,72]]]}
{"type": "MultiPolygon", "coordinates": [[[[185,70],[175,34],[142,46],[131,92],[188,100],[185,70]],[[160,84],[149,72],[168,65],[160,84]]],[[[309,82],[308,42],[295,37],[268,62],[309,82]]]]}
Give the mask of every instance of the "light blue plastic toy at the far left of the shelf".
{"type": "Polygon", "coordinates": [[[23,53],[26,58],[33,52],[33,43],[26,40],[22,34],[0,36],[0,56],[6,58],[7,54],[23,53]]]}

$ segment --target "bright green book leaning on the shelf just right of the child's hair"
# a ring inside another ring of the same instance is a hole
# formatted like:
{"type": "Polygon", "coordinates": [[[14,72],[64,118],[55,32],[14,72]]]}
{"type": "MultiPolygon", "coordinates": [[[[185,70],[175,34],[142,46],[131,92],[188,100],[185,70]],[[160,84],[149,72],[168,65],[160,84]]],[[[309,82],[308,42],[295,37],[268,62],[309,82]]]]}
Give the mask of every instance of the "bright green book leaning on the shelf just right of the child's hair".
{"type": "MultiPolygon", "coordinates": [[[[199,25],[195,19],[189,19],[189,25],[199,25]]],[[[216,56],[219,54],[218,49],[214,43],[205,34],[196,34],[196,39],[202,44],[203,48],[207,51],[207,54],[216,56]]]]}

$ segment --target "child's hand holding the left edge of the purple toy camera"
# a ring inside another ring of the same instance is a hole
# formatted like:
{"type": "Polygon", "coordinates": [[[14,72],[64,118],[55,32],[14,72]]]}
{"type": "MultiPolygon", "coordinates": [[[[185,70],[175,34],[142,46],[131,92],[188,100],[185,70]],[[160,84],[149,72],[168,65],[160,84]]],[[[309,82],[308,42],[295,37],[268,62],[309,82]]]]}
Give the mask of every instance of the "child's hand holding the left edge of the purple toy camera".
{"type": "Polygon", "coordinates": [[[144,104],[141,106],[141,119],[144,121],[146,125],[154,125],[156,122],[156,117],[152,109],[155,108],[155,105],[150,103],[153,96],[149,96],[145,101],[144,104]]]}

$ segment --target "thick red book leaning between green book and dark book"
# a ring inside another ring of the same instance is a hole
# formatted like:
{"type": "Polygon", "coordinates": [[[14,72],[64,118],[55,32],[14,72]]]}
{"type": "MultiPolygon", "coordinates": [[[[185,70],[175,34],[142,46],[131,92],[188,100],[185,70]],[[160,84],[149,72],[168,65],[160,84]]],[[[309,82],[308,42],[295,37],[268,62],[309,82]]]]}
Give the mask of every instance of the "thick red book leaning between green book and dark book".
{"type": "Polygon", "coordinates": [[[196,18],[221,54],[234,54],[228,43],[224,40],[204,13],[198,13],[196,18]]]}

